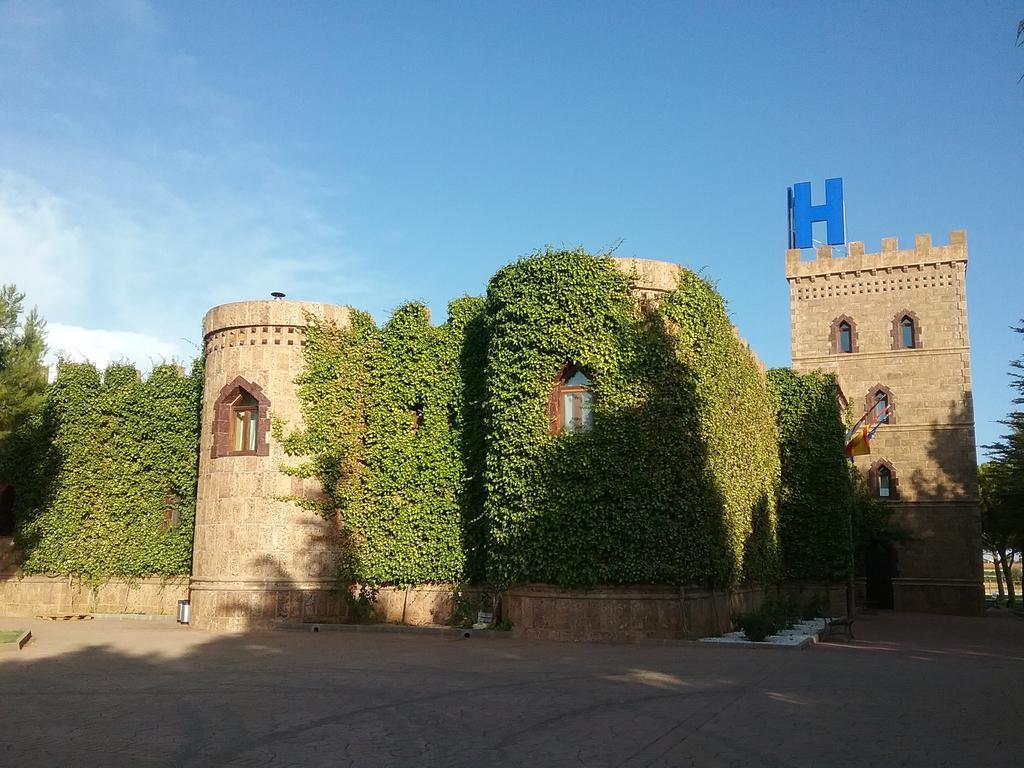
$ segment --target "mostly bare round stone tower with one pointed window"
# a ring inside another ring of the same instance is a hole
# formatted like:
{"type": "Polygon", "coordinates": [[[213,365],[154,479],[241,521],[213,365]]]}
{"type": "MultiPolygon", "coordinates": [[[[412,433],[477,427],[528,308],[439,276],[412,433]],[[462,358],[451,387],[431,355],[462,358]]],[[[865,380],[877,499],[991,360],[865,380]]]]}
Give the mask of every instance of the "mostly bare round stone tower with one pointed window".
{"type": "Polygon", "coordinates": [[[342,617],[334,591],[336,526],[284,497],[313,497],[315,480],[281,471],[295,463],[270,434],[301,426],[295,378],[304,367],[306,317],[349,324],[346,307],[242,301],[203,321],[206,383],[200,443],[191,624],[242,630],[279,621],[342,617]]]}

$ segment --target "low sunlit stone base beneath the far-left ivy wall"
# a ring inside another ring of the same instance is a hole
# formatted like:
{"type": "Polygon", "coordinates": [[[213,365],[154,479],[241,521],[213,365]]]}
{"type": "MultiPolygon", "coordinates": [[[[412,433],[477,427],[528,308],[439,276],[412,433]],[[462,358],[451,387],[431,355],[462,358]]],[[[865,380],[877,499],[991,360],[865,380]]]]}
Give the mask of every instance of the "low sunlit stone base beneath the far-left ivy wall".
{"type": "Polygon", "coordinates": [[[151,613],[176,615],[178,600],[188,597],[187,577],[113,579],[98,586],[67,577],[0,577],[0,615],[58,613],[151,613]]]}

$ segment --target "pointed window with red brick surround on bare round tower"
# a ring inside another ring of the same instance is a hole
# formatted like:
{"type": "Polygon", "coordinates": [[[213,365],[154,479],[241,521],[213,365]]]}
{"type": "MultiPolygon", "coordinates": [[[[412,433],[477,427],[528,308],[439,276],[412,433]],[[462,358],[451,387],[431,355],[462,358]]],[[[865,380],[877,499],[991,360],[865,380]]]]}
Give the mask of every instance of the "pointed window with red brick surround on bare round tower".
{"type": "Polygon", "coordinates": [[[211,456],[269,456],[270,400],[259,384],[237,376],[213,407],[211,456]]]}

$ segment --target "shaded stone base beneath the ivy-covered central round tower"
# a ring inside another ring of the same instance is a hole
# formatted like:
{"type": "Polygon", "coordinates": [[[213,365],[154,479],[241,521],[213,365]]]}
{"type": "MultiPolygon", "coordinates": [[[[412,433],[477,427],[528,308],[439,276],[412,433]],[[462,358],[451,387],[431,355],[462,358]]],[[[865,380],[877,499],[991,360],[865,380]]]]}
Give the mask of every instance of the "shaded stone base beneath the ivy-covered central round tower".
{"type": "MultiPolygon", "coordinates": [[[[842,615],[844,585],[784,585],[798,604],[820,596],[829,612],[842,615]]],[[[732,617],[760,607],[766,590],[637,587],[567,590],[548,585],[510,589],[503,617],[518,636],[569,642],[694,640],[733,629],[732,617]]]]}

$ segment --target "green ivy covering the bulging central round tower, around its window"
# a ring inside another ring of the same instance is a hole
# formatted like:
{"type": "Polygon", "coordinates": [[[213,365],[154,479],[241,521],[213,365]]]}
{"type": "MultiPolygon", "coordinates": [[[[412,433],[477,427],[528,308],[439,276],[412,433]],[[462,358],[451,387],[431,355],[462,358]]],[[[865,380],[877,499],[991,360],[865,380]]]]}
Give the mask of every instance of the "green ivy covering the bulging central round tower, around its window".
{"type": "Polygon", "coordinates": [[[777,569],[774,400],[724,302],[683,271],[656,307],[606,256],[547,250],[487,289],[484,509],[500,584],[735,584],[777,569]],[[594,429],[551,435],[566,362],[594,429]]]}

